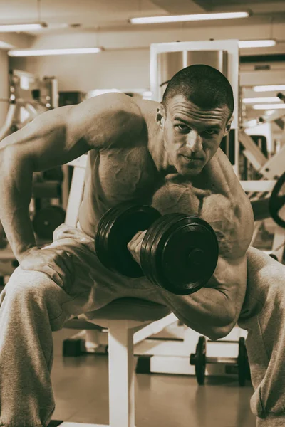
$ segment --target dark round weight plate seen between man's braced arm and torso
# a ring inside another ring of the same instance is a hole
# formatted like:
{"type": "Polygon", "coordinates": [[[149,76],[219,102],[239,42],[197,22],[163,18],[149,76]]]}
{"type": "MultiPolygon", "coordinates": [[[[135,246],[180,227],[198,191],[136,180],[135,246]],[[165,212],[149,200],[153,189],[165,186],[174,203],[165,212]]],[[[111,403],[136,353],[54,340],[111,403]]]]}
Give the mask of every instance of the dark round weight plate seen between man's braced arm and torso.
{"type": "Polygon", "coordinates": [[[46,206],[40,209],[33,217],[33,230],[38,238],[52,240],[53,231],[60,226],[66,218],[66,211],[61,206],[46,206]]]}

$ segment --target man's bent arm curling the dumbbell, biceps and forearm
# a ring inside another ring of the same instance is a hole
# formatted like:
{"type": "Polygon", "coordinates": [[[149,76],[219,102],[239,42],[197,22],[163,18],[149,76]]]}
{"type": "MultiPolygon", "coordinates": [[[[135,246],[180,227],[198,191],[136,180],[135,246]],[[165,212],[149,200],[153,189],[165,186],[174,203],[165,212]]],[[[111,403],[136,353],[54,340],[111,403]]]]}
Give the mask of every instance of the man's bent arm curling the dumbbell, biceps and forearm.
{"type": "MultiPolygon", "coordinates": [[[[162,291],[167,305],[185,325],[211,339],[226,336],[237,323],[247,288],[246,253],[252,241],[254,217],[237,177],[231,179],[232,191],[205,196],[199,211],[219,241],[219,260],[212,278],[191,295],[182,297],[162,291]]],[[[184,186],[175,189],[180,196],[181,191],[185,191],[184,186]]]]}

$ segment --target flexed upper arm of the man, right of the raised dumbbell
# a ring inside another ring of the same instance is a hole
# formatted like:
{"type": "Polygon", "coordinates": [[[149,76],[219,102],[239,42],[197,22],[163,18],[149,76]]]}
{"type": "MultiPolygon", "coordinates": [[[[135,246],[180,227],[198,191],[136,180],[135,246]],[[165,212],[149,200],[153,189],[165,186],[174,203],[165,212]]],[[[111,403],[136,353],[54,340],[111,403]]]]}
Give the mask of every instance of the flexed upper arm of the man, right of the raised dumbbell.
{"type": "Polygon", "coordinates": [[[212,226],[219,241],[217,268],[205,288],[215,288],[227,296],[227,309],[231,313],[225,327],[228,333],[242,310],[247,288],[246,253],[254,230],[252,205],[238,179],[234,187],[229,197],[222,194],[206,197],[201,211],[201,218],[212,226]]]}

